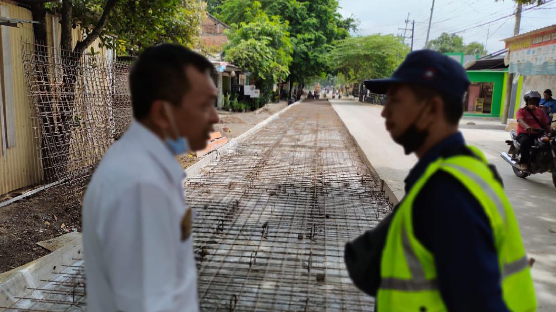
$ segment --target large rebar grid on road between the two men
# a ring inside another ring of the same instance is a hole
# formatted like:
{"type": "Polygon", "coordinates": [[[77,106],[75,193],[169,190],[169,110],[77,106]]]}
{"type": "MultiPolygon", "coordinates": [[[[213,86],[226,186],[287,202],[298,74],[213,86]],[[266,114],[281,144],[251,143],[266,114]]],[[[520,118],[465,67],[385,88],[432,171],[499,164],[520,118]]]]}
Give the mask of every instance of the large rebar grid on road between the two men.
{"type": "Polygon", "coordinates": [[[368,311],[344,244],[390,205],[327,102],[291,107],[188,178],[203,311],[368,311]]]}

